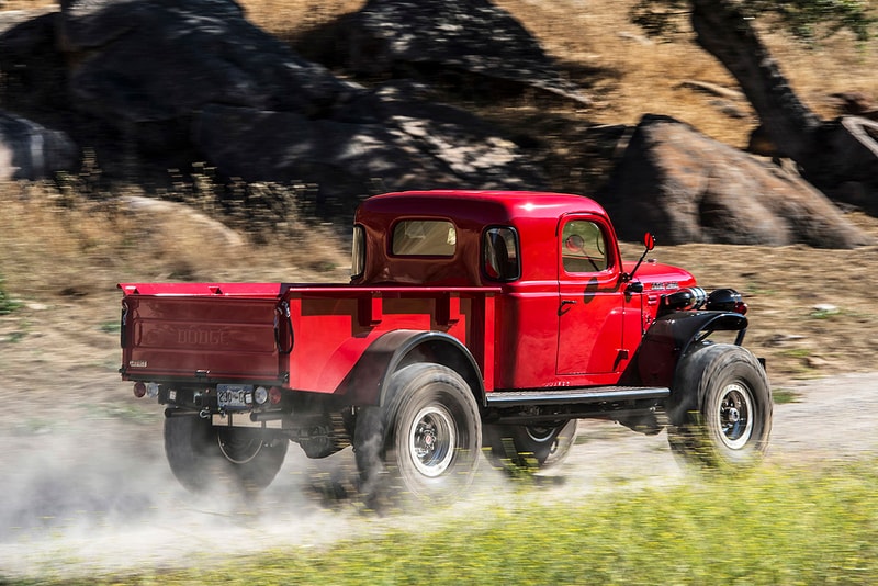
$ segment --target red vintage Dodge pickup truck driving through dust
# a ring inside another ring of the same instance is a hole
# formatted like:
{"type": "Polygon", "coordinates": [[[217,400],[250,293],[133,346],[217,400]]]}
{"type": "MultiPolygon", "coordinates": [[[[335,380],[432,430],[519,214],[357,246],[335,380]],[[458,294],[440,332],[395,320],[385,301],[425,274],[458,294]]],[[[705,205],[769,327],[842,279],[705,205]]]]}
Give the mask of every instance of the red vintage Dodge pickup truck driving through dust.
{"type": "Polygon", "coordinates": [[[622,260],[590,199],[387,193],[360,205],[352,241],[345,284],[120,284],[121,373],[166,406],[185,487],[266,487],[293,441],[309,458],[352,446],[369,502],[449,499],[482,451],[560,462],[582,418],[666,428],[707,465],[765,451],[770,387],[741,346],[741,294],[643,262],[651,235],[622,260]]]}

